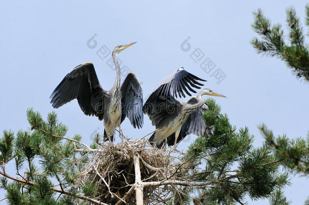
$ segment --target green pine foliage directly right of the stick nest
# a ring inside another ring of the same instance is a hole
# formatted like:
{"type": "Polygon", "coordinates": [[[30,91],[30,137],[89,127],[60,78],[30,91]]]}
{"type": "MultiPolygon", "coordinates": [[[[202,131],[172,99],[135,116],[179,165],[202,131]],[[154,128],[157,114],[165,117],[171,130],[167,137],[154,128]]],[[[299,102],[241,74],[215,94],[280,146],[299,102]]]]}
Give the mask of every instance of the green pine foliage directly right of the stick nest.
{"type": "Polygon", "coordinates": [[[289,184],[288,174],[280,172],[281,161],[271,148],[253,148],[254,137],[248,128],[237,132],[213,99],[206,104],[206,134],[188,147],[182,159],[188,172],[179,176],[211,182],[206,189],[189,190],[196,193],[192,199],[196,204],[243,204],[246,195],[253,199],[271,197],[275,189],[289,184]]]}

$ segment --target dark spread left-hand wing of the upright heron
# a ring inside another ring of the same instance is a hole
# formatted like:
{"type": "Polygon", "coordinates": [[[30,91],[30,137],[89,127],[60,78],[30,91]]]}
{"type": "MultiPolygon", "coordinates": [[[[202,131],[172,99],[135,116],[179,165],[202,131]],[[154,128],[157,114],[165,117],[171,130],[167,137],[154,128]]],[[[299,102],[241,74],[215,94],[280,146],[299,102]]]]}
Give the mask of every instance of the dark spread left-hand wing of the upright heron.
{"type": "Polygon", "coordinates": [[[86,115],[103,119],[104,102],[108,94],[101,87],[92,63],[76,66],[53,91],[51,103],[58,108],[77,99],[86,115]]]}

